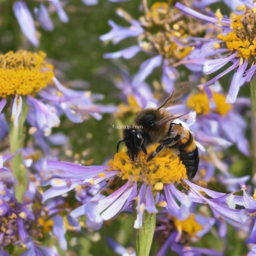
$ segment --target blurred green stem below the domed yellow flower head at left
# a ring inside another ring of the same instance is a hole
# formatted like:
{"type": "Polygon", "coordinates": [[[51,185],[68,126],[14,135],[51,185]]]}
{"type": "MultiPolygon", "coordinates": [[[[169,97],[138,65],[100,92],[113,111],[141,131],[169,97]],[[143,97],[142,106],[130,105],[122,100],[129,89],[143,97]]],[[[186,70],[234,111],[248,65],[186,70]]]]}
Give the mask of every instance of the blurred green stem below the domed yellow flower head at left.
{"type": "MultiPolygon", "coordinates": [[[[24,98],[23,98],[24,99],[24,98]]],[[[15,126],[14,122],[11,121],[10,124],[10,146],[11,146],[11,154],[15,154],[19,149],[24,146],[24,122],[27,117],[27,103],[23,100],[22,110],[20,113],[20,117],[18,119],[18,125],[15,126]]],[[[19,202],[23,200],[23,194],[26,190],[27,186],[27,171],[25,166],[23,165],[23,159],[21,155],[21,151],[18,152],[12,158],[12,169],[14,177],[17,179],[17,184],[15,184],[15,197],[19,202]]]]}

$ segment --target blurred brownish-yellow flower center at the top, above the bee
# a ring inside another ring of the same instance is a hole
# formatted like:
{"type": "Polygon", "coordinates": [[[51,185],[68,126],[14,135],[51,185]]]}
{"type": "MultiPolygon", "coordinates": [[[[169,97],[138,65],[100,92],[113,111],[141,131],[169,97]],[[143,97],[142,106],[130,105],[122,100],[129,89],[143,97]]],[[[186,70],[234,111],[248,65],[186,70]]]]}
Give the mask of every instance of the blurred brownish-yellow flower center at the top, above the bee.
{"type": "Polygon", "coordinates": [[[139,37],[139,44],[145,51],[156,50],[169,59],[170,64],[185,58],[193,46],[187,46],[187,35],[200,36],[205,28],[187,18],[173,3],[156,2],[150,9],[144,6],[145,16],[140,17],[146,32],[139,37]]]}

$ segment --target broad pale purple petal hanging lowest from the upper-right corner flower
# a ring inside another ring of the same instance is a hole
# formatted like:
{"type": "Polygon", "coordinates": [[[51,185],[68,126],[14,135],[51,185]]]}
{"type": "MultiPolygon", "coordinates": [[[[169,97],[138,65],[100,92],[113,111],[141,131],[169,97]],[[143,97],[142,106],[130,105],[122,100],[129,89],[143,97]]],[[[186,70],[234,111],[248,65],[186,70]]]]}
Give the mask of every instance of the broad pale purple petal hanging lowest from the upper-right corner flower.
{"type": "Polygon", "coordinates": [[[226,103],[234,103],[236,101],[236,96],[240,86],[242,86],[242,77],[247,65],[248,61],[245,60],[244,63],[236,70],[235,75],[233,75],[233,79],[229,87],[229,93],[227,94],[226,103]]]}

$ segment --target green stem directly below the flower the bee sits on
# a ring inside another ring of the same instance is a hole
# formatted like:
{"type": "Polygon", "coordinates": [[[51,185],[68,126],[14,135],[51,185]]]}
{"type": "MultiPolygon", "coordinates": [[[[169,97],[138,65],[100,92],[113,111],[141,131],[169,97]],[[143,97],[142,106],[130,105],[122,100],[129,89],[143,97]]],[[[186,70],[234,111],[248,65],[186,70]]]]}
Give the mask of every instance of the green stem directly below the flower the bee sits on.
{"type": "MultiPolygon", "coordinates": [[[[137,211],[134,209],[134,215],[137,211]]],[[[155,232],[155,213],[143,214],[143,224],[140,229],[135,229],[136,256],[148,256],[155,232]]]]}

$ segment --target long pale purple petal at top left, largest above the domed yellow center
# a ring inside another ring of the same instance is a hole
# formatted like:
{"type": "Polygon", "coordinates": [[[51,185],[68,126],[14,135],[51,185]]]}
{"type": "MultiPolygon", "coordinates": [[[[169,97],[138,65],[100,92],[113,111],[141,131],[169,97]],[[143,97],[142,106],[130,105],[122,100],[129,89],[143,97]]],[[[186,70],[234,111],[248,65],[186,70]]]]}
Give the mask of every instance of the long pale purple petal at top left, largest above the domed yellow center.
{"type": "Polygon", "coordinates": [[[17,1],[13,5],[14,14],[20,24],[22,32],[26,35],[27,39],[34,45],[38,46],[37,32],[35,30],[35,23],[32,15],[27,8],[26,3],[17,1]]]}

